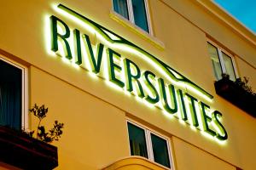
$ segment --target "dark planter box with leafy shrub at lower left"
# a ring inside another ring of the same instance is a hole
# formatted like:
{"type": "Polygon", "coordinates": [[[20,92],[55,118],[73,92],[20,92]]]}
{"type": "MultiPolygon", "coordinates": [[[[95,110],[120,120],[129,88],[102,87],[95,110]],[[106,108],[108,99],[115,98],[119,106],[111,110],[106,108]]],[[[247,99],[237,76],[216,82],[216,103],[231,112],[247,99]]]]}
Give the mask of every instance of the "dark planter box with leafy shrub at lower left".
{"type": "Polygon", "coordinates": [[[60,139],[64,124],[55,121],[54,126],[46,132],[41,122],[48,108],[34,105],[30,111],[39,120],[36,138],[32,137],[34,131],[17,131],[0,126],[0,161],[22,169],[53,169],[58,166],[58,153],[57,147],[49,143],[60,139]]]}

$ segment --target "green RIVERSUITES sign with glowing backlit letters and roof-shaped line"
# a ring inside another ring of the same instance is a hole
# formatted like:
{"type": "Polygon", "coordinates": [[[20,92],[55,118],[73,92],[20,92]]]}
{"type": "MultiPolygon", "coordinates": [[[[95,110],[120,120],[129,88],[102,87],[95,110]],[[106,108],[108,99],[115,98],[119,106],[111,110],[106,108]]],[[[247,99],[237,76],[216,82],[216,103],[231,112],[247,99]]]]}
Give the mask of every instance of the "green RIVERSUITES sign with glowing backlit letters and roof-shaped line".
{"type": "Polygon", "coordinates": [[[60,4],[56,11],[78,28],[71,29],[67,21],[50,16],[52,52],[106,79],[126,94],[133,94],[147,105],[210,134],[212,139],[228,139],[221,123],[222,114],[206,104],[213,99],[207,91],[143,48],[72,9],[60,4]]]}

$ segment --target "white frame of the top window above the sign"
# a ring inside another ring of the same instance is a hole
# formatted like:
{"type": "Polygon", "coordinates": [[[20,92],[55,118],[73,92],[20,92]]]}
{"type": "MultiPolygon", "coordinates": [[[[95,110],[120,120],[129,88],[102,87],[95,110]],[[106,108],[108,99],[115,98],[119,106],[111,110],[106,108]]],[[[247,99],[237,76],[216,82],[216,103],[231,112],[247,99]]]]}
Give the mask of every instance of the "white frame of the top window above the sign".
{"type": "MultiPolygon", "coordinates": [[[[123,17],[121,14],[118,14],[116,11],[114,11],[113,9],[113,13],[117,14],[119,17],[121,17],[124,20],[129,20],[131,22],[132,25],[136,26],[139,30],[147,32],[150,35],[153,35],[153,30],[151,27],[151,22],[150,22],[150,14],[149,14],[149,5],[148,5],[148,0],[143,0],[144,2],[144,6],[145,6],[145,11],[146,11],[146,17],[147,17],[147,24],[148,24],[148,31],[143,30],[143,28],[137,26],[135,24],[135,20],[134,20],[134,14],[133,14],[133,8],[132,8],[132,2],[131,0],[125,0],[127,3],[127,11],[128,11],[128,19],[126,19],[125,17],[123,17]]],[[[113,4],[113,1],[112,1],[113,4]]],[[[113,5],[112,5],[113,7],[113,5]]]]}

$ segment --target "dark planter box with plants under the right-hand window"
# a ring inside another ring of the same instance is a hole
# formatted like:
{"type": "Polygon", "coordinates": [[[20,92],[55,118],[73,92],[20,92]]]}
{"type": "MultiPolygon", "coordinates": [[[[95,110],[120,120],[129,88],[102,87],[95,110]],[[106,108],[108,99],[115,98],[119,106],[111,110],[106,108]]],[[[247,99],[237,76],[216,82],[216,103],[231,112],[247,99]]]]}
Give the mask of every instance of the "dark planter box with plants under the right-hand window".
{"type": "Polygon", "coordinates": [[[233,82],[227,74],[223,74],[222,77],[221,80],[214,83],[216,93],[256,117],[256,94],[248,85],[249,79],[247,77],[244,77],[243,80],[237,78],[236,82],[233,82]]]}

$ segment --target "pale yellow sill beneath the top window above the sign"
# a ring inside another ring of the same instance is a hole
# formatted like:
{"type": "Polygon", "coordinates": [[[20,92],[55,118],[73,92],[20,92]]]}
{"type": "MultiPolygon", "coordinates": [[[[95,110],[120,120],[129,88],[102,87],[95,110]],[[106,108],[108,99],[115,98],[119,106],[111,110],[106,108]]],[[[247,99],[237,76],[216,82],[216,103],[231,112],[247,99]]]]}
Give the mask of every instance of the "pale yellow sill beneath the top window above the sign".
{"type": "Polygon", "coordinates": [[[129,20],[126,20],[121,15],[117,14],[113,10],[110,11],[110,18],[117,21],[120,25],[125,26],[126,28],[129,28],[131,31],[137,33],[138,36],[143,37],[143,39],[148,40],[151,44],[153,44],[156,48],[159,48],[160,50],[165,49],[164,42],[161,42],[156,37],[150,35],[147,31],[144,31],[142,28],[134,25],[129,20]]]}

